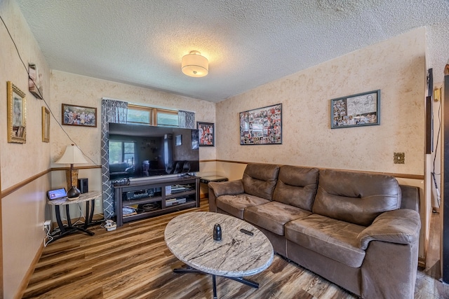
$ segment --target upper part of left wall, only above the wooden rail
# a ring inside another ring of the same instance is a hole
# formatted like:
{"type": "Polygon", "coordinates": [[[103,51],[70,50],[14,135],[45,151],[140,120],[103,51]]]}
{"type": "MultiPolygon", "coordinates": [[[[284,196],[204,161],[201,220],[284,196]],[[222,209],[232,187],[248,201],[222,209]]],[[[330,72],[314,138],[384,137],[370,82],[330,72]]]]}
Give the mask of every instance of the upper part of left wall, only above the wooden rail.
{"type": "Polygon", "coordinates": [[[29,63],[39,67],[39,72],[42,74],[43,95],[48,103],[50,102],[50,71],[14,1],[0,3],[0,13],[26,66],[25,69],[13,41],[3,23],[0,22],[0,158],[1,173],[4,174],[1,176],[1,188],[4,190],[28,179],[29,176],[48,169],[50,145],[42,142],[41,129],[41,107],[46,105],[41,99],[36,99],[28,92],[27,69],[29,63]],[[7,142],[6,81],[11,81],[25,92],[27,99],[27,142],[25,144],[7,142]],[[30,153],[33,154],[30,155],[30,153]]]}

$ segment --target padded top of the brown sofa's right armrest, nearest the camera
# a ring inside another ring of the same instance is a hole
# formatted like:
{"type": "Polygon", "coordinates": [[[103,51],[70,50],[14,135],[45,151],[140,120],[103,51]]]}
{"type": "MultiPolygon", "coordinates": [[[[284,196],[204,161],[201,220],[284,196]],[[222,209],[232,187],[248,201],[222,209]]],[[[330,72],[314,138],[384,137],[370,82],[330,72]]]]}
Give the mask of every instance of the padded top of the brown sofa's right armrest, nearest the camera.
{"type": "Polygon", "coordinates": [[[386,211],[358,234],[358,245],[366,250],[371,241],[415,244],[420,239],[420,228],[420,214],[417,211],[411,209],[386,211]]]}

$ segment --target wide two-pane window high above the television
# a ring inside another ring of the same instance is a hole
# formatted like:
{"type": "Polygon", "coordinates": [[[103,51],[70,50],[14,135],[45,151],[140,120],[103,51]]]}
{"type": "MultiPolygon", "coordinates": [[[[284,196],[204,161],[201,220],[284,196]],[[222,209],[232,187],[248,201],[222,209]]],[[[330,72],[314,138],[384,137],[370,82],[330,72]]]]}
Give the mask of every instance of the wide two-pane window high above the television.
{"type": "Polygon", "coordinates": [[[177,111],[128,104],[128,123],[179,127],[177,111]]]}

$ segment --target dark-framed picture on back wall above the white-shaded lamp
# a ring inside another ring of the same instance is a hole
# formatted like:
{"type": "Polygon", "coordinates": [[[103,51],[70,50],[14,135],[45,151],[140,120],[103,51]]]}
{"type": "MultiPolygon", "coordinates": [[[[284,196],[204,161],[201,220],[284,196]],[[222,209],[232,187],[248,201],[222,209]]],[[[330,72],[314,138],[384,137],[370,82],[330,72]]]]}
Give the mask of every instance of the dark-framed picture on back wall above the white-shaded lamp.
{"type": "Polygon", "coordinates": [[[97,109],[95,107],[62,104],[62,125],[97,127],[97,109]]]}

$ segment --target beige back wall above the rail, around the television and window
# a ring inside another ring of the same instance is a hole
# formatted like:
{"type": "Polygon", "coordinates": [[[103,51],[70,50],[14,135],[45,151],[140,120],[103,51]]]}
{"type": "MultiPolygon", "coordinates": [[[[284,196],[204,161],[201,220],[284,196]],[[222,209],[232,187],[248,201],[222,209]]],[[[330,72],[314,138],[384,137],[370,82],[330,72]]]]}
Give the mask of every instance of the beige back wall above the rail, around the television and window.
{"type": "MultiPolygon", "coordinates": [[[[215,120],[215,104],[211,102],[62,71],[51,71],[51,97],[51,110],[58,118],[59,123],[61,121],[61,104],[96,107],[97,118],[100,120],[102,97],[166,109],[195,111],[196,121],[213,123],[215,120]]],[[[51,125],[51,162],[53,166],[58,166],[54,164],[55,160],[58,160],[67,144],[71,142],[62,129],[79,145],[88,158],[93,160],[90,165],[94,165],[94,162],[100,165],[100,124],[97,127],[76,127],[59,126],[53,122],[51,125]]],[[[215,147],[200,148],[201,160],[214,158],[215,147]]]]}

